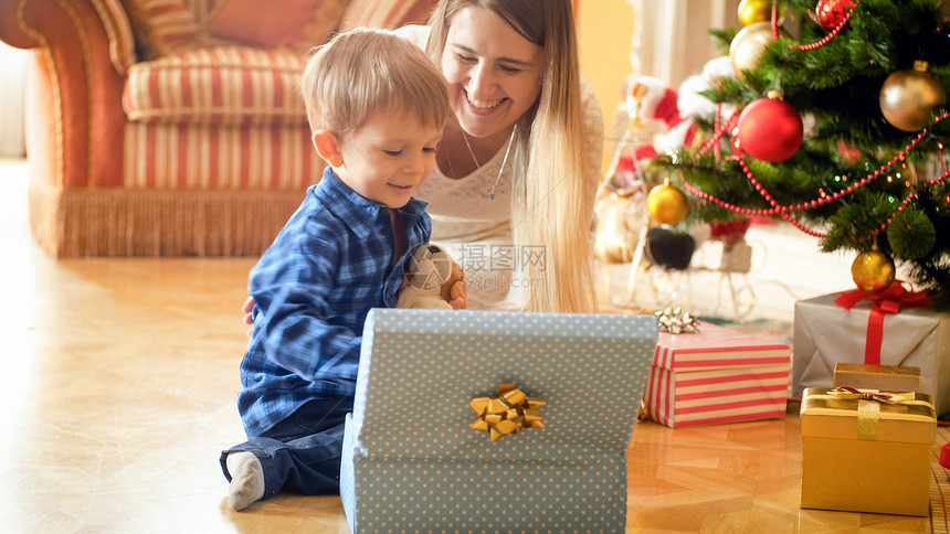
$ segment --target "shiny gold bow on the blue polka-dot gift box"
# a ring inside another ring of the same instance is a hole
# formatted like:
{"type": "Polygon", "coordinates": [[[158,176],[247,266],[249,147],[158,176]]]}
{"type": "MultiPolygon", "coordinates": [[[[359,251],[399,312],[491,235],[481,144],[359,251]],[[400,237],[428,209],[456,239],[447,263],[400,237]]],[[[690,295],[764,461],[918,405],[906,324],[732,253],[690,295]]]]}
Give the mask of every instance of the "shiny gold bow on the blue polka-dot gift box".
{"type": "Polygon", "coordinates": [[[489,432],[493,444],[521,428],[545,428],[538,412],[543,405],[543,400],[529,397],[515,384],[500,383],[497,397],[478,397],[468,403],[478,414],[472,428],[489,432]]]}

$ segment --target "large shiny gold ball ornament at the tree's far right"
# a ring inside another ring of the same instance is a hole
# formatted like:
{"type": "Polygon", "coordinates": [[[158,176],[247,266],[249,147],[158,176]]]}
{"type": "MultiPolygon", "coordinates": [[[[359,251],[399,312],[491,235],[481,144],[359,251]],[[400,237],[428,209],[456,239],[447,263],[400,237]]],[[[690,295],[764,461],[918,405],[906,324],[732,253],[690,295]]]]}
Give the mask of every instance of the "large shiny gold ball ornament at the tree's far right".
{"type": "Polygon", "coordinates": [[[946,96],[940,82],[927,72],[927,62],[914,62],[914,68],[893,73],[880,87],[880,113],[891,126],[918,131],[930,122],[935,108],[946,96]]]}

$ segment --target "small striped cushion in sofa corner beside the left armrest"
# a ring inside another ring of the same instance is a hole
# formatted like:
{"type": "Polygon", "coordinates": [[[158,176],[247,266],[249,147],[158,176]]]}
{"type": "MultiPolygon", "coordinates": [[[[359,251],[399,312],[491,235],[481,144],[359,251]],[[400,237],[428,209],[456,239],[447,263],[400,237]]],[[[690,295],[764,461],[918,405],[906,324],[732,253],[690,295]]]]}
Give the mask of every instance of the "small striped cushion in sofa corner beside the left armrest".
{"type": "Polygon", "coordinates": [[[181,0],[122,0],[135,35],[136,55],[154,60],[194,46],[194,14],[181,0]]]}

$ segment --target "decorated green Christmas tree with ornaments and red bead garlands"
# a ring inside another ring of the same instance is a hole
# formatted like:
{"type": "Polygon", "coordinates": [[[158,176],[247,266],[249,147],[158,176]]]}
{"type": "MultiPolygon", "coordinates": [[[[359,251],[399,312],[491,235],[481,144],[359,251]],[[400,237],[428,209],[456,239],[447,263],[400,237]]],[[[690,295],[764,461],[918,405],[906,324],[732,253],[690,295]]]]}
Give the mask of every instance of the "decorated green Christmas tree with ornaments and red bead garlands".
{"type": "Polygon", "coordinates": [[[859,253],[863,289],[889,286],[893,260],[918,288],[950,296],[950,21],[940,10],[935,0],[743,0],[743,28],[712,31],[736,67],[704,93],[720,113],[657,162],[689,199],[686,224],[784,218],[824,252],[859,253]]]}

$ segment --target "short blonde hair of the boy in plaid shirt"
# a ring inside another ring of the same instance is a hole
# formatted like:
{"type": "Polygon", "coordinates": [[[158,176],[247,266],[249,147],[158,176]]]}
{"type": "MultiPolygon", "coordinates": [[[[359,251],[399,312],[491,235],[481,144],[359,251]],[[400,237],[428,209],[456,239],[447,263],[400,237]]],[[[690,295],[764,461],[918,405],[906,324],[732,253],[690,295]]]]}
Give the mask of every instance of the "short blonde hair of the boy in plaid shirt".
{"type": "Polygon", "coordinates": [[[452,113],[445,77],[435,64],[388,30],[357,29],[313,49],[300,94],[310,129],[338,136],[393,109],[439,128],[452,113]]]}

